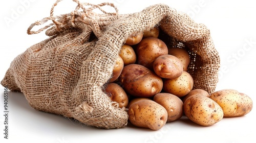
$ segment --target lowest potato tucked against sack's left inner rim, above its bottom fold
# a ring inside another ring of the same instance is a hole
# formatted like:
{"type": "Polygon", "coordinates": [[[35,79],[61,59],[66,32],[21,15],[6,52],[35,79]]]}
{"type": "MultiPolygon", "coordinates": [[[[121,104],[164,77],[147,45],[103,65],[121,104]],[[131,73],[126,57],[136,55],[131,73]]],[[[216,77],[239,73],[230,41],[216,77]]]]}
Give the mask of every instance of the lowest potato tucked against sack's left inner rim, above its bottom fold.
{"type": "Polygon", "coordinates": [[[129,99],[121,86],[116,83],[109,83],[106,86],[105,92],[112,101],[118,103],[119,108],[127,107],[129,99]]]}

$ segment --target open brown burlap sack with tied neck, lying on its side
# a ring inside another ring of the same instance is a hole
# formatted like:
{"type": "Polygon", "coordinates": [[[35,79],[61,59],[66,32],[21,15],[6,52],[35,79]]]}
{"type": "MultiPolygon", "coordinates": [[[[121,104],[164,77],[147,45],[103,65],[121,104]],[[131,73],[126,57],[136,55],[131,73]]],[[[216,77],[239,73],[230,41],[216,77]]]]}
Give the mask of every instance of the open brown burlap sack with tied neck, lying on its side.
{"type": "Polygon", "coordinates": [[[186,49],[191,58],[188,73],[194,88],[215,91],[220,58],[210,32],[187,14],[165,4],[153,5],[141,12],[118,14],[113,4],[91,5],[75,1],[71,13],[51,15],[32,23],[28,34],[46,30],[49,36],[18,55],[1,84],[24,93],[36,110],[60,114],[98,128],[123,128],[128,115],[104,93],[115,59],[130,35],[159,26],[161,38],[168,46],[186,49]],[[109,5],[116,12],[108,13],[109,5]],[[86,8],[86,6],[90,6],[86,8]],[[103,13],[97,14],[94,9],[103,13]],[[52,20],[53,23],[31,31],[52,20]]]}

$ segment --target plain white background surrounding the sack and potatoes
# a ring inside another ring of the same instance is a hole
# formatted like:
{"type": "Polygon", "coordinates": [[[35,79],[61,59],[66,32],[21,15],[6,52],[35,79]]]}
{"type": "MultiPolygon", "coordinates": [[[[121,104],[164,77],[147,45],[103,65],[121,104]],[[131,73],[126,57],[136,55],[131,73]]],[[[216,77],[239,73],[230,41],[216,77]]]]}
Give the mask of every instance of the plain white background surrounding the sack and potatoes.
{"type": "MultiPolygon", "coordinates": [[[[55,1],[12,0],[1,1],[1,70],[2,80],[11,61],[29,46],[47,38],[42,32],[27,35],[30,24],[50,15],[55,1]]],[[[253,1],[138,1],[109,0],[85,1],[99,4],[114,3],[119,13],[139,12],[153,4],[164,3],[183,11],[196,22],[204,23],[211,32],[221,57],[220,80],[216,90],[237,89],[246,93],[254,103],[256,62],[256,6],[253,1]]],[[[60,2],[55,15],[69,13],[75,8],[71,0],[60,2]]],[[[110,8],[106,8],[110,10],[110,8]]],[[[39,27],[37,27],[39,28],[39,27]]],[[[40,27],[41,28],[41,27],[40,27]]],[[[36,29],[36,28],[35,28],[36,29]]],[[[97,129],[82,126],[65,117],[40,112],[29,106],[22,93],[9,92],[9,139],[4,139],[4,87],[0,87],[0,142],[254,142],[255,115],[252,111],[242,117],[223,118],[219,123],[202,127],[186,117],[167,123],[162,129],[152,131],[128,125],[122,129],[97,129]]]]}

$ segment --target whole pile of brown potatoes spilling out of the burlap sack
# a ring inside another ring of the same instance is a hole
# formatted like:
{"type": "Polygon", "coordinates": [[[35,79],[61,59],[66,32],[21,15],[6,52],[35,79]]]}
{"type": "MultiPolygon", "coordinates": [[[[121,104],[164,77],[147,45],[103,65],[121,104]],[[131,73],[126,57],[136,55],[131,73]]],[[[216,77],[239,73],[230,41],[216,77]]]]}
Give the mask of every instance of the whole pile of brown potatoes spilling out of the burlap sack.
{"type": "Polygon", "coordinates": [[[158,27],[131,35],[103,89],[119,108],[128,109],[131,124],[158,130],[185,115],[196,124],[210,126],[223,117],[251,111],[252,100],[237,90],[209,94],[193,89],[193,77],[187,72],[188,52],[167,47],[158,36],[158,27]]]}

